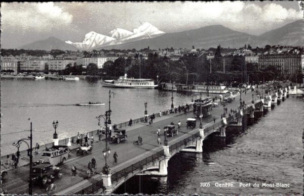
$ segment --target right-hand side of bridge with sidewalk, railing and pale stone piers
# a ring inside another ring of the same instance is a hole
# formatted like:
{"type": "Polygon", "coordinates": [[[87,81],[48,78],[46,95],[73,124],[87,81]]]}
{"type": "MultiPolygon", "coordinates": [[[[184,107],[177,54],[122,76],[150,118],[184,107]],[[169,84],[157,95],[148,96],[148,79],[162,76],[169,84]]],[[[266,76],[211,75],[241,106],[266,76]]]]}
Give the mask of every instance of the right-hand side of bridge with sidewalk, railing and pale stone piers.
{"type": "MultiPolygon", "coordinates": [[[[222,115],[222,118],[217,119],[217,122],[214,122],[213,119],[211,119],[211,121],[209,120],[209,122],[205,121],[202,123],[202,126],[197,129],[181,130],[179,132],[183,134],[171,138],[167,145],[164,144],[160,147],[155,146],[155,148],[132,157],[117,166],[111,167],[110,174],[97,174],[92,177],[94,178],[94,181],[86,180],[80,182],[79,184],[75,184],[57,192],[56,194],[110,194],[135,175],[166,176],[168,174],[168,162],[175,154],[179,152],[202,153],[203,140],[208,136],[216,134],[224,139],[226,132],[229,132],[231,127],[231,130],[234,130],[235,127],[239,130],[244,130],[249,121],[253,118],[261,117],[265,110],[280,104],[286,97],[286,91],[283,92],[283,90],[255,101],[253,100],[252,95],[251,104],[246,105],[244,102],[241,102],[236,113],[222,115]],[[230,123],[232,123],[231,126],[230,123]],[[105,191],[102,189],[102,185],[105,186],[105,191]]],[[[245,95],[243,99],[249,101],[250,95],[245,95]]],[[[237,101],[232,105],[237,106],[237,101]]],[[[214,110],[216,109],[219,108],[215,108],[214,110]]],[[[213,113],[220,114],[218,110],[213,113]]],[[[183,119],[185,119],[186,117],[189,117],[189,114],[182,116],[183,119]]],[[[175,118],[177,117],[172,117],[170,120],[176,122],[175,118]]],[[[143,148],[144,146],[145,145],[143,145],[143,148]]]]}

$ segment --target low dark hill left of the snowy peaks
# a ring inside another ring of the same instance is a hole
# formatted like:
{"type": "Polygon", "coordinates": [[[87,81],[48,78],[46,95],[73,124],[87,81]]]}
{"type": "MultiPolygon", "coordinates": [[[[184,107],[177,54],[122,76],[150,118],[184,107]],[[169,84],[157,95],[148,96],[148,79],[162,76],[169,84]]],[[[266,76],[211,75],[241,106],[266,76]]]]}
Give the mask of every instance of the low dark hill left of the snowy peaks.
{"type": "Polygon", "coordinates": [[[74,47],[71,44],[65,43],[64,41],[56,37],[49,37],[48,39],[45,40],[34,41],[32,43],[19,47],[19,49],[45,50],[45,51],[51,51],[52,49],[57,49],[57,50],[77,51],[76,47],[74,47]]]}

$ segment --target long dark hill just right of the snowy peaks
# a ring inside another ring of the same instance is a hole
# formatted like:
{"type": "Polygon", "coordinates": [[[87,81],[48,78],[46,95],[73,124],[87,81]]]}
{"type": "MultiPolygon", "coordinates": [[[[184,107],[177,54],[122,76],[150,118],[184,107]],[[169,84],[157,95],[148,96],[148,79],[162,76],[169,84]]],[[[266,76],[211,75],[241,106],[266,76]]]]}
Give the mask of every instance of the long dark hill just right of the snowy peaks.
{"type": "Polygon", "coordinates": [[[193,45],[196,48],[209,48],[216,47],[218,44],[222,47],[232,48],[243,47],[244,44],[250,44],[255,47],[258,43],[259,40],[257,36],[234,31],[222,25],[213,25],[194,30],[166,33],[151,39],[143,39],[99,48],[140,49],[147,46],[150,46],[151,49],[166,48],[167,46],[173,48],[192,48],[193,45]]]}

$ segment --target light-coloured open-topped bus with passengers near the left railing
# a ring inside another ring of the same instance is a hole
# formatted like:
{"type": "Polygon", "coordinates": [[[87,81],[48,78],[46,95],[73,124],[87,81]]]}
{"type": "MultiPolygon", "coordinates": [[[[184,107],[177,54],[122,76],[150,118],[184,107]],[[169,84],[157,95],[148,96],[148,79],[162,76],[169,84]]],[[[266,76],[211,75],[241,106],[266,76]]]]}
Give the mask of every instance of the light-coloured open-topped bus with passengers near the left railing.
{"type": "Polygon", "coordinates": [[[42,152],[41,160],[52,165],[64,163],[68,159],[69,150],[66,145],[54,145],[42,152]]]}

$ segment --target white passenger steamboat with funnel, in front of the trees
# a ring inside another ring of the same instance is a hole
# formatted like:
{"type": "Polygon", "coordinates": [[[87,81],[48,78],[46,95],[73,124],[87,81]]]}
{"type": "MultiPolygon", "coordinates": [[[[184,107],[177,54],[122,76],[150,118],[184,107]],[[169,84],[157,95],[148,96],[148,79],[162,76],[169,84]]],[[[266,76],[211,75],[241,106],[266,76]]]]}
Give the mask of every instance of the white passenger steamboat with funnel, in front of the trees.
{"type": "Polygon", "coordinates": [[[102,86],[116,87],[116,88],[155,88],[158,85],[154,84],[152,79],[134,79],[120,76],[118,80],[104,80],[101,81],[102,86]]]}

